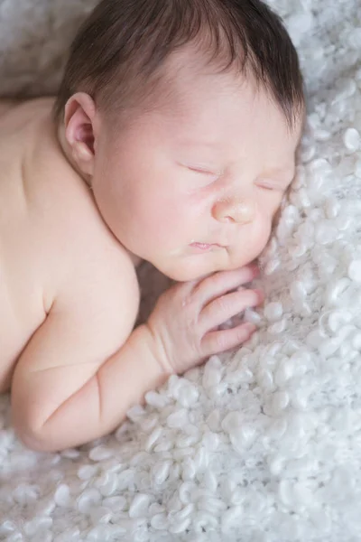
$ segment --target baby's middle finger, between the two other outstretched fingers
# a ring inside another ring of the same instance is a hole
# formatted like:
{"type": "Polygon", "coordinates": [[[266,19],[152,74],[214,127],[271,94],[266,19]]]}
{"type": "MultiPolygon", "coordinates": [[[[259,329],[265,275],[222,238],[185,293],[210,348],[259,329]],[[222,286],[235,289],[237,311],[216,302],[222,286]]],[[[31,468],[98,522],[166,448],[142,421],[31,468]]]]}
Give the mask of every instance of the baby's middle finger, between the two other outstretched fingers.
{"type": "Polygon", "coordinates": [[[232,294],[221,295],[203,308],[199,314],[199,325],[208,332],[229,318],[242,313],[249,307],[255,307],[264,301],[260,290],[242,290],[232,294]]]}

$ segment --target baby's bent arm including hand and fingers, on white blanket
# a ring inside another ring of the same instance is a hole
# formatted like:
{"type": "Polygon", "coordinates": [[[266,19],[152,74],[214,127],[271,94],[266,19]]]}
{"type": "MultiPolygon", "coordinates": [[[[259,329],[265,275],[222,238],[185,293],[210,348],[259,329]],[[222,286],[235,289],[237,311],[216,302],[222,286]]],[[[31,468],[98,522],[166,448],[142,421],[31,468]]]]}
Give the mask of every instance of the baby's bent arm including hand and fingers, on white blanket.
{"type": "Polygon", "coordinates": [[[149,321],[129,337],[132,319],[126,315],[117,329],[124,344],[113,355],[104,350],[114,336],[105,337],[102,315],[97,321],[77,307],[55,306],[14,372],[14,425],[23,442],[53,451],[105,435],[172,372],[184,372],[245,341],[253,331],[249,324],[217,328],[262,301],[256,291],[234,291],[254,276],[245,267],[173,286],[162,294],[149,321]],[[94,321],[97,329],[87,324],[94,321]]]}

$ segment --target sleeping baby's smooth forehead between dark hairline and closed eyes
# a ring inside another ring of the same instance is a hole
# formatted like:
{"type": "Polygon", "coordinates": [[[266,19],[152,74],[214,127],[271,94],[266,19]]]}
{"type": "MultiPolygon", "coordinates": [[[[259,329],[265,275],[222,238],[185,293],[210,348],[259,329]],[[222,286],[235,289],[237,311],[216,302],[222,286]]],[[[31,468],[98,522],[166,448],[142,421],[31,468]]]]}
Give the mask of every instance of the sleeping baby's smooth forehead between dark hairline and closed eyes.
{"type": "Polygon", "coordinates": [[[279,161],[294,154],[301,136],[302,119],[291,130],[251,73],[217,72],[190,51],[168,61],[153,112],[179,144],[199,139],[229,154],[247,155],[256,145],[279,161]]]}

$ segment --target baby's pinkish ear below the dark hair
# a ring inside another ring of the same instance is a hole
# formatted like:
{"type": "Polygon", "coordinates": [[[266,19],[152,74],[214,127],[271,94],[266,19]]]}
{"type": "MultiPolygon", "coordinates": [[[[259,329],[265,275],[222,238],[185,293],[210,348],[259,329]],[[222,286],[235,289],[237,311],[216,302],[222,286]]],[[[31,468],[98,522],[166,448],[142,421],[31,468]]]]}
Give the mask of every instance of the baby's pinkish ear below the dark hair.
{"type": "Polygon", "coordinates": [[[69,98],[64,115],[65,139],[80,171],[90,176],[96,149],[95,117],[96,105],[88,94],[77,92],[69,98]]]}

